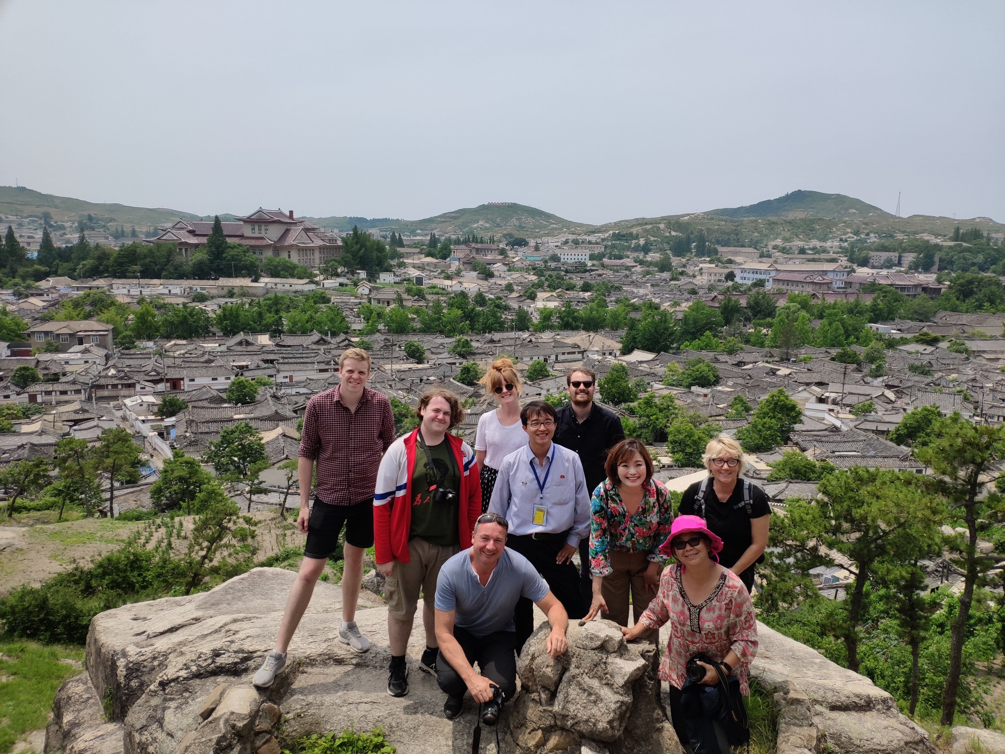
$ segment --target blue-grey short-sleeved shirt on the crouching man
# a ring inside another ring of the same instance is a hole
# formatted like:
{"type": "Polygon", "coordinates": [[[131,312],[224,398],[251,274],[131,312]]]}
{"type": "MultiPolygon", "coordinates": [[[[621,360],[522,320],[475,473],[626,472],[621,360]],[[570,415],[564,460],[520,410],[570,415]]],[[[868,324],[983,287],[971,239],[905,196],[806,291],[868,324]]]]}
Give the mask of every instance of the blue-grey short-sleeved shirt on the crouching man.
{"type": "Polygon", "coordinates": [[[513,631],[513,611],[520,597],[538,602],[548,595],[548,584],[531,561],[509,547],[502,549],[488,583],[478,581],[471,551],[461,550],[440,568],[436,579],[436,609],[455,610],[453,624],[475,636],[513,631]]]}

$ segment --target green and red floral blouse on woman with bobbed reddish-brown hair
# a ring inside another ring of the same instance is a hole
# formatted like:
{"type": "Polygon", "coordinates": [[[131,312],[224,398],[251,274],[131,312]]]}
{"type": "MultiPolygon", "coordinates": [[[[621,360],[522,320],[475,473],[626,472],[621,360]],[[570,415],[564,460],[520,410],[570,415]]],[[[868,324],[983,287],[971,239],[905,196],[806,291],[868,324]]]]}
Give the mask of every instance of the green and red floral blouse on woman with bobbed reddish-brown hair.
{"type": "Polygon", "coordinates": [[[604,480],[590,501],[590,573],[606,576],[613,569],[611,548],[628,552],[648,552],[649,560],[665,563],[657,549],[670,535],[673,506],[662,482],[649,480],[642,488],[642,502],[631,516],[625,510],[618,488],[604,480]]]}

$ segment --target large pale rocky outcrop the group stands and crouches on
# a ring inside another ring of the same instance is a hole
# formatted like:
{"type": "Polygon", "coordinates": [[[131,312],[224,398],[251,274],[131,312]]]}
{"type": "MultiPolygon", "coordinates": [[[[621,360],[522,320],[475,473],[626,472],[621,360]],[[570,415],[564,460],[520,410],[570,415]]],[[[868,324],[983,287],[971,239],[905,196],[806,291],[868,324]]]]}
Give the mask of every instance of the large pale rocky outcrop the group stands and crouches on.
{"type": "MultiPolygon", "coordinates": [[[[251,676],[271,647],[295,574],[256,568],[211,591],[125,605],[94,617],[86,673],[56,694],[46,754],[280,754],[310,733],[381,726],[400,754],[467,754],[476,705],[454,721],[435,679],[418,672],[424,635],[408,646],[411,693],[387,695],[387,608],[363,592],[357,623],[371,650],[337,636],[341,590],[319,582],[269,690],[251,676]]],[[[540,617],[539,617],[540,619],[540,617]]],[[[613,623],[569,628],[552,659],[539,628],[521,657],[522,692],[499,724],[504,754],[676,754],[655,676],[656,651],[627,644],[613,623]]],[[[816,651],[761,626],[753,675],[780,708],[779,754],[933,754],[888,694],[816,651]]],[[[482,731],[492,754],[494,732],[482,731]]]]}

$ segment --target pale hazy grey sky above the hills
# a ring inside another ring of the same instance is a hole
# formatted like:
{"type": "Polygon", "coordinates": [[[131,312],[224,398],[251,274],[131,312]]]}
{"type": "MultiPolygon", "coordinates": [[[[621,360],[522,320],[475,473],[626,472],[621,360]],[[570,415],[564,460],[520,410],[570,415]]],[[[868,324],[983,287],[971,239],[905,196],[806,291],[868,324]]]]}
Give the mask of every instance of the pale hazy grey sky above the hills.
{"type": "Polygon", "coordinates": [[[1005,221],[1001,0],[0,0],[0,184],[90,201],[1005,221]]]}

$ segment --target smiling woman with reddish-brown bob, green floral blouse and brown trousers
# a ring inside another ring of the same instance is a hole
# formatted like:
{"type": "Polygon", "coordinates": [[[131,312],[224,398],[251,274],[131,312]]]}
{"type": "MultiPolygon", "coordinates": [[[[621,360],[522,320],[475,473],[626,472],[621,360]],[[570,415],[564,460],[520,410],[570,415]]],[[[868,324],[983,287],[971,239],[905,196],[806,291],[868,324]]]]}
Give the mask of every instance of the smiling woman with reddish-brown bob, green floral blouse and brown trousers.
{"type": "MultiPolygon", "coordinates": [[[[659,544],[673,522],[670,495],[652,479],[652,459],[637,439],[621,440],[607,453],[607,479],[593,492],[590,519],[590,573],[593,601],[586,619],[598,612],[628,625],[628,595],[633,618],[656,593],[666,556],[659,544]]],[[[655,643],[657,631],[643,637],[655,643]]]]}

